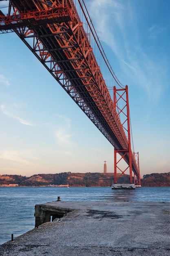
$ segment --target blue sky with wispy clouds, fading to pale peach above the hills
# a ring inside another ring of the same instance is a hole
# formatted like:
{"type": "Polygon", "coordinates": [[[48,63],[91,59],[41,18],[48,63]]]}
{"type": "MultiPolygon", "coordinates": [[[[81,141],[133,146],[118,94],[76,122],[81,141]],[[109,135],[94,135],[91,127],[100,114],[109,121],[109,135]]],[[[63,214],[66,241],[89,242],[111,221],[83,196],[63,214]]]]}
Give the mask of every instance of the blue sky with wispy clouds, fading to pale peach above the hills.
{"type": "MultiPolygon", "coordinates": [[[[169,172],[170,1],[85,3],[117,78],[128,85],[141,176],[169,172]]],[[[0,49],[0,174],[103,172],[105,160],[113,172],[113,146],[20,38],[0,34],[0,49]]]]}

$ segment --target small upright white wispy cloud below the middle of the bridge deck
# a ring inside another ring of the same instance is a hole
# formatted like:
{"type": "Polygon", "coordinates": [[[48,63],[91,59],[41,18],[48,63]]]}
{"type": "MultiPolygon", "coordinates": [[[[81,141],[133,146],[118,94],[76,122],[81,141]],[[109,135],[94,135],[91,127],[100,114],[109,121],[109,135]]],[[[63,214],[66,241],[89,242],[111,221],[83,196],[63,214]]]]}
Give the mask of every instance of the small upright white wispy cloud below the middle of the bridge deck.
{"type": "Polygon", "coordinates": [[[73,144],[71,141],[72,134],[69,133],[69,128],[71,127],[71,120],[65,116],[55,115],[58,118],[57,129],[54,132],[54,136],[57,142],[64,144],[73,144]]]}

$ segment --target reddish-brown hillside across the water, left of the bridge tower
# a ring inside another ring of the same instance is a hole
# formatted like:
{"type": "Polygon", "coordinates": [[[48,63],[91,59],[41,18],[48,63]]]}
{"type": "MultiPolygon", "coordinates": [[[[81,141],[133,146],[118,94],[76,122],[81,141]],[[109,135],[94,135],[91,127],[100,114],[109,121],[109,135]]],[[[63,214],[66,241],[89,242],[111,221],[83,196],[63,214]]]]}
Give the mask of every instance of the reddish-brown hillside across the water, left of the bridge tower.
{"type": "MultiPolygon", "coordinates": [[[[128,178],[122,176],[121,183],[128,182],[128,178]]],[[[18,184],[18,186],[48,186],[50,184],[69,186],[111,186],[114,181],[113,173],[55,173],[35,174],[31,177],[20,175],[0,175],[0,184],[18,184]]]]}

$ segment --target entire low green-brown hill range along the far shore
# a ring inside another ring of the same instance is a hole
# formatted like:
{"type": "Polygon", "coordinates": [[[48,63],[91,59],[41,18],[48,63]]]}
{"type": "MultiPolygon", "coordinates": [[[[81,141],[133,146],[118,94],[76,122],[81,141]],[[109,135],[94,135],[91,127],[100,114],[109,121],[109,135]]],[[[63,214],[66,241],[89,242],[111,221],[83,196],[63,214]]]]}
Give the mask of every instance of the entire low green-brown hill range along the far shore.
{"type": "MultiPolygon", "coordinates": [[[[117,174],[119,176],[119,174],[117,174]]],[[[129,175],[127,175],[129,177],[129,175]]],[[[129,183],[122,175],[117,183],[129,183]]],[[[111,186],[114,183],[114,173],[55,173],[35,174],[31,177],[21,175],[0,175],[0,186],[18,184],[18,186],[111,186]]],[[[170,173],[152,173],[144,175],[141,186],[170,186],[170,173]]]]}

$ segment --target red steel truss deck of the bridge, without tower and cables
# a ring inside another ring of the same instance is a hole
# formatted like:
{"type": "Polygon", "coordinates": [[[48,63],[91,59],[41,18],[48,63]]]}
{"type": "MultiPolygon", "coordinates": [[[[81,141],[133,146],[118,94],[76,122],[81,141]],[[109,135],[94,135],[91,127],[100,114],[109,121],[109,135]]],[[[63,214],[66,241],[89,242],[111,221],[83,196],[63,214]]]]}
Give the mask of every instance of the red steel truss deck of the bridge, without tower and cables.
{"type": "Polygon", "coordinates": [[[140,184],[130,137],[126,137],[73,0],[10,0],[8,15],[0,11],[0,31],[15,31],[126,161],[130,183],[133,172],[135,183],[140,184]]]}

